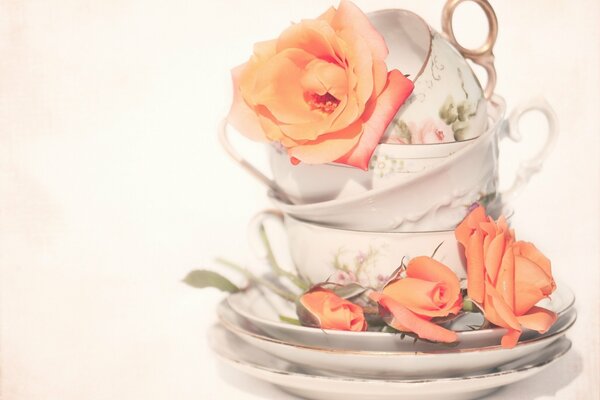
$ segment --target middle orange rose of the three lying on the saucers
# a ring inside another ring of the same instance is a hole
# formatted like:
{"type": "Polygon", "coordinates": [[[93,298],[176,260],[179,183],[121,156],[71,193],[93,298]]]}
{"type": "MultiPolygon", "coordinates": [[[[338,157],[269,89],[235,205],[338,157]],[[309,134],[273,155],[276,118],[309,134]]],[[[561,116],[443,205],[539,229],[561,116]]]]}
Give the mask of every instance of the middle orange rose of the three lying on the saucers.
{"type": "Polygon", "coordinates": [[[435,317],[457,314],[462,308],[458,277],[433,258],[413,258],[406,266],[406,277],[369,297],[379,303],[384,320],[392,328],[436,342],[457,340],[455,332],[430,322],[435,317]]]}

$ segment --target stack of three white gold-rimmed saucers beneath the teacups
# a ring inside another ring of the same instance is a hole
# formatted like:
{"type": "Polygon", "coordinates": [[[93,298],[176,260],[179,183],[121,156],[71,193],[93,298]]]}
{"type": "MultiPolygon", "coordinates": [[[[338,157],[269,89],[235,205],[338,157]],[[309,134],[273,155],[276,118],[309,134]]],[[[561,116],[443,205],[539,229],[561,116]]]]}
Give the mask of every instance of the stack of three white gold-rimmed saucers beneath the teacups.
{"type": "Polygon", "coordinates": [[[565,334],[577,317],[574,296],[559,285],[540,304],[558,315],[552,328],[523,332],[512,349],[503,328],[471,330],[469,314],[453,323],[458,344],[415,341],[398,333],[320,330],[283,322],[293,306],[251,288],[218,308],[210,345],[236,369],[311,399],[473,399],[528,378],[571,347],[565,334]]]}

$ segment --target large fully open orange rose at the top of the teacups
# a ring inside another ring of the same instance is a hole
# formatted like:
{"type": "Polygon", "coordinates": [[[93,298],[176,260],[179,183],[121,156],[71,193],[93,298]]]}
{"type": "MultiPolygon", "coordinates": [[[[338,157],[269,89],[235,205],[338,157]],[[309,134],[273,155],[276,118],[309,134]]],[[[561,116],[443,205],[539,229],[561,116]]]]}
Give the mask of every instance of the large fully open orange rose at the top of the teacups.
{"type": "Polygon", "coordinates": [[[292,162],[367,169],[388,124],[413,90],[387,71],[383,37],[351,2],[257,43],[232,71],[229,121],[259,141],[277,142],[292,162]]]}

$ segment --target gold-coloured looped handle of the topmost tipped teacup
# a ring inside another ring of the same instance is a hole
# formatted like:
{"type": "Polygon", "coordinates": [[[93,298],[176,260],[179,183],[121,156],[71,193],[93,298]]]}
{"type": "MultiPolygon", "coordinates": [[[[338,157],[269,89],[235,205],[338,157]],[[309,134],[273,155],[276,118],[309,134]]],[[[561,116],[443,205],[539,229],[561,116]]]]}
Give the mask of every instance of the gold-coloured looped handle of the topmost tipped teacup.
{"type": "Polygon", "coordinates": [[[496,88],[496,67],[494,66],[494,45],[498,37],[498,18],[487,0],[447,0],[442,12],[442,30],[448,40],[460,51],[463,57],[470,59],[476,64],[481,65],[487,73],[487,84],[485,86],[485,98],[489,99],[496,88]],[[477,4],[488,21],[488,36],[485,43],[477,49],[467,49],[458,43],[454,36],[454,28],[452,27],[452,19],[456,7],[463,1],[472,1],[477,4]]]}

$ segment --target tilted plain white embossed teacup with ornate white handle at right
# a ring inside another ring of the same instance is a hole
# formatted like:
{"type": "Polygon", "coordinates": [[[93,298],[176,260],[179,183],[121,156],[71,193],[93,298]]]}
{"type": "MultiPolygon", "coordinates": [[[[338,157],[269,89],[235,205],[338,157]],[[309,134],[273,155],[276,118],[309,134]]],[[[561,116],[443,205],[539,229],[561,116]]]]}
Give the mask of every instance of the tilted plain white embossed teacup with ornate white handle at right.
{"type": "MultiPolygon", "coordinates": [[[[488,130],[441,163],[407,180],[364,193],[314,204],[292,204],[271,191],[276,208],[295,218],[337,228],[384,232],[450,230],[465,217],[476,201],[510,201],[541,170],[558,135],[558,122],[552,108],[543,99],[515,109],[507,121],[505,105],[495,96],[488,108],[488,130]],[[521,163],[512,186],[498,192],[498,145],[509,138],[518,142],[522,135],[519,120],[530,111],[541,111],[548,121],[542,148],[521,163]]],[[[323,180],[327,176],[322,177],[323,180]]]]}

